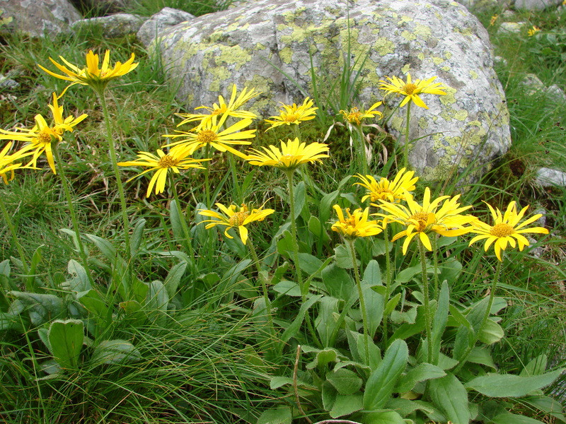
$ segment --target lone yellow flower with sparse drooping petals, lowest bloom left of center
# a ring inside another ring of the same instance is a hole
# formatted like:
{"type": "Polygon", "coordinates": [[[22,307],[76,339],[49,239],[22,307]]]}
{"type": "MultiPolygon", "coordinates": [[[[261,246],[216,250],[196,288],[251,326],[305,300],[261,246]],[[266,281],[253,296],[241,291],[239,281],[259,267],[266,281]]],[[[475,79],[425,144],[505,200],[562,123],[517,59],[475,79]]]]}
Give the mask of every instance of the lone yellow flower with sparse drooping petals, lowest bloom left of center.
{"type": "Polygon", "coordinates": [[[260,208],[252,209],[251,211],[248,209],[246,204],[243,204],[242,206],[230,205],[226,208],[223,204],[217,203],[216,207],[219,208],[224,215],[221,215],[216,211],[210,211],[209,209],[202,209],[199,211],[200,215],[212,218],[202,221],[203,223],[209,223],[204,228],[208,230],[216,225],[225,225],[226,230],[224,230],[224,235],[228,238],[233,238],[229,234],[228,230],[230,230],[230,228],[238,228],[240,238],[244,245],[248,242],[248,228],[246,228],[246,225],[253,221],[264,220],[265,217],[275,212],[273,209],[264,209],[263,205],[260,206],[260,208]]]}

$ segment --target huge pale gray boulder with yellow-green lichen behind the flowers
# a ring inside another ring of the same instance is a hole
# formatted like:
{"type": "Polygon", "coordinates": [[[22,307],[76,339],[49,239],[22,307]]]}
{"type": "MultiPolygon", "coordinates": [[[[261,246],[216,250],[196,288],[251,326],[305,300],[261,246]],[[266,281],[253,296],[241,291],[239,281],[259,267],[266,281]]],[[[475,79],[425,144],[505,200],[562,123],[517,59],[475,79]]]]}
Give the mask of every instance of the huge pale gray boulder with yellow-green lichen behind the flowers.
{"type": "MultiPolygon", "coordinates": [[[[350,39],[352,63],[367,54],[359,61],[359,101],[366,106],[383,99],[384,76],[409,71],[413,79],[438,76],[449,86],[448,95],[422,95],[429,110],[412,107],[410,138],[421,139],[410,163],[424,179],[468,165],[477,177],[478,165],[507,151],[509,113],[489,37],[465,7],[449,0],[357,0],[349,13],[350,28],[346,8],[334,0],[258,0],[176,25],[158,38],[156,52],[190,109],[212,105],[236,83],[262,91],[250,109],[265,117],[277,113],[279,101],[312,95],[311,59],[319,89],[337,81],[350,39]]],[[[399,102],[386,98],[391,108],[399,102]]],[[[405,110],[389,121],[395,136],[402,134],[405,110]]]]}

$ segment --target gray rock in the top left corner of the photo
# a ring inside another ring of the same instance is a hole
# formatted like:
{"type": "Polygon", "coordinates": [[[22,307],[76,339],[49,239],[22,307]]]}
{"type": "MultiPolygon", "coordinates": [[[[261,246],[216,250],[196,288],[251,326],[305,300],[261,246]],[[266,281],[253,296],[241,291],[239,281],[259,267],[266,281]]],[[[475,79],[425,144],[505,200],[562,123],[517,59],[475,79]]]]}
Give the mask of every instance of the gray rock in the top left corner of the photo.
{"type": "Polygon", "coordinates": [[[0,0],[0,11],[0,18],[11,18],[0,32],[18,31],[30,37],[64,33],[82,18],[67,0],[0,0]]]}

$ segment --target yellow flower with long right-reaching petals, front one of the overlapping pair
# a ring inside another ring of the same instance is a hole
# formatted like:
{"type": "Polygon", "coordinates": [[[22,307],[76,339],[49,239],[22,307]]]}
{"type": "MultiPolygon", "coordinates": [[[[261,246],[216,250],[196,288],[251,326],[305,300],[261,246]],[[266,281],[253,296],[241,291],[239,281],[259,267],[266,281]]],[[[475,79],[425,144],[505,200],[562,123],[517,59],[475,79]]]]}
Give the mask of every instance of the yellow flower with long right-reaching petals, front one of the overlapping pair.
{"type": "Polygon", "coordinates": [[[255,137],[256,130],[246,129],[246,131],[241,131],[241,129],[246,128],[246,126],[249,126],[251,123],[251,119],[242,119],[222,131],[219,124],[214,124],[212,120],[209,120],[202,124],[202,126],[193,128],[191,131],[175,131],[178,134],[164,134],[163,137],[170,137],[171,139],[182,138],[179,141],[166,144],[165,147],[183,145],[187,147],[189,154],[192,155],[192,153],[199,148],[212,146],[217,151],[229,151],[230,153],[245,159],[246,154],[237,151],[229,145],[251,144],[251,141],[246,140],[253,139],[255,137]]]}

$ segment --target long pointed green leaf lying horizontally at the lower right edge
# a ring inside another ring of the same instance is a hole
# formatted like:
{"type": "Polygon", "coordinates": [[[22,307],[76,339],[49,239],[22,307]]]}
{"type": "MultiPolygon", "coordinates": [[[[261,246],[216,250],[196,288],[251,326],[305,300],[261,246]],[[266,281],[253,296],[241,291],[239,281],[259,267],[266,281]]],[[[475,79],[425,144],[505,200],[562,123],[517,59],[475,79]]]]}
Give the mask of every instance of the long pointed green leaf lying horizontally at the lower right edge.
{"type": "Polygon", "coordinates": [[[466,383],[466,388],[490,397],[521,397],[548,386],[562,374],[562,371],[563,369],[560,369],[530,377],[489,373],[475,377],[466,383]]]}

